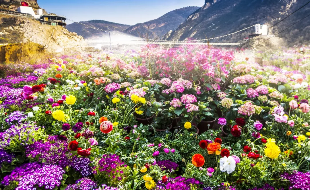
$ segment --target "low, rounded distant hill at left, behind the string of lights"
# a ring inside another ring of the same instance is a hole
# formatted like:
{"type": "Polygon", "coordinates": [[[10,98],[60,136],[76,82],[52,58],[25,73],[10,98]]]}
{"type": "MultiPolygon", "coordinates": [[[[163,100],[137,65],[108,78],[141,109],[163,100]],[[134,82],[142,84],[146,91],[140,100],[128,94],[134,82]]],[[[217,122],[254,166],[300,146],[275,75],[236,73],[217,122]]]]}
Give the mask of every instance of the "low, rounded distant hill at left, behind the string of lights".
{"type": "MultiPolygon", "coordinates": [[[[111,30],[111,31],[119,31],[119,32],[124,32],[124,30],[130,25],[126,24],[120,24],[120,23],[113,23],[113,22],[108,22],[105,20],[89,20],[89,21],[82,21],[80,22],[82,24],[86,24],[88,26],[96,27],[102,30],[111,30]]],[[[83,36],[84,38],[90,38],[93,36],[100,36],[102,32],[100,30],[90,28],[83,26],[82,24],[78,23],[72,23],[68,24],[66,28],[70,32],[76,32],[78,35],[83,36]]]]}

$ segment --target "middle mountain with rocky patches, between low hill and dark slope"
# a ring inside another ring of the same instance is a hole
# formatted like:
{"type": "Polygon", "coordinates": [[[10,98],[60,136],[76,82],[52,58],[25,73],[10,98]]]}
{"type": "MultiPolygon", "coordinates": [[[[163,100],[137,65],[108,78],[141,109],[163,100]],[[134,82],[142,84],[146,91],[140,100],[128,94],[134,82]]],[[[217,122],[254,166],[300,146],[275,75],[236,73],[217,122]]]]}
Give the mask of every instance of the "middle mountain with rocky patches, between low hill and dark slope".
{"type": "Polygon", "coordinates": [[[162,15],[158,19],[135,24],[134,26],[127,28],[125,32],[134,36],[139,36],[139,33],[142,35],[149,32],[150,38],[155,36],[163,36],[166,32],[175,30],[182,22],[185,21],[188,15],[192,14],[198,8],[199,7],[197,6],[188,6],[181,9],[176,9],[162,15]]]}

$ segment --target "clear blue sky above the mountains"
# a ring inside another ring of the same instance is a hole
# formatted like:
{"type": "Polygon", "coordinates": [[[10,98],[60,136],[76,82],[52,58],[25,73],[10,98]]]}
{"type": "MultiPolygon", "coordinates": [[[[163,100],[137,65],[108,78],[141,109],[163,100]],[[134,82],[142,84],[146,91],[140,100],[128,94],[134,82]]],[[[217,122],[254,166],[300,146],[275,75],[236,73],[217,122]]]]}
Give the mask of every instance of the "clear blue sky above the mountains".
{"type": "Polygon", "coordinates": [[[38,4],[74,21],[99,19],[134,25],[182,7],[203,6],[204,0],[38,0],[38,4]]]}

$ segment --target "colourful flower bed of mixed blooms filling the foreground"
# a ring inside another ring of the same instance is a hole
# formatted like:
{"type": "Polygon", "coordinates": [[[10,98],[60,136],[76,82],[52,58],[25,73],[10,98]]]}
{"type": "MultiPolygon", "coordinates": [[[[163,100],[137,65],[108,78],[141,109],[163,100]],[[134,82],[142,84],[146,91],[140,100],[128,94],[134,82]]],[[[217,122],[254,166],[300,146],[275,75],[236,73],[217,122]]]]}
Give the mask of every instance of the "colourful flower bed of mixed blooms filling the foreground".
{"type": "Polygon", "coordinates": [[[310,186],[307,70],[190,45],[22,68],[0,80],[5,189],[310,186]]]}

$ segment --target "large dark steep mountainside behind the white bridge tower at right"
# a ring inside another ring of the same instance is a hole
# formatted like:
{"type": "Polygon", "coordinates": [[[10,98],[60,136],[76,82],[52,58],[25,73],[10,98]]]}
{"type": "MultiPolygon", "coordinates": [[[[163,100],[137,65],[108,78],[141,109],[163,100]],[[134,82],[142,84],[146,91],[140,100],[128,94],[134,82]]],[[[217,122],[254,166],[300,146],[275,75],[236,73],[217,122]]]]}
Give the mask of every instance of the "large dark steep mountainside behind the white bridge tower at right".
{"type": "MultiPolygon", "coordinates": [[[[188,16],[186,21],[165,39],[205,39],[239,31],[254,24],[270,27],[306,4],[308,0],[205,0],[205,4],[188,16]]],[[[269,30],[276,34],[309,14],[310,4],[289,16],[269,30]]],[[[248,37],[245,30],[241,37],[248,37]]],[[[300,44],[310,40],[310,19],[304,19],[279,34],[288,44],[300,44]]],[[[240,39],[240,38],[239,38],[240,39]]]]}

